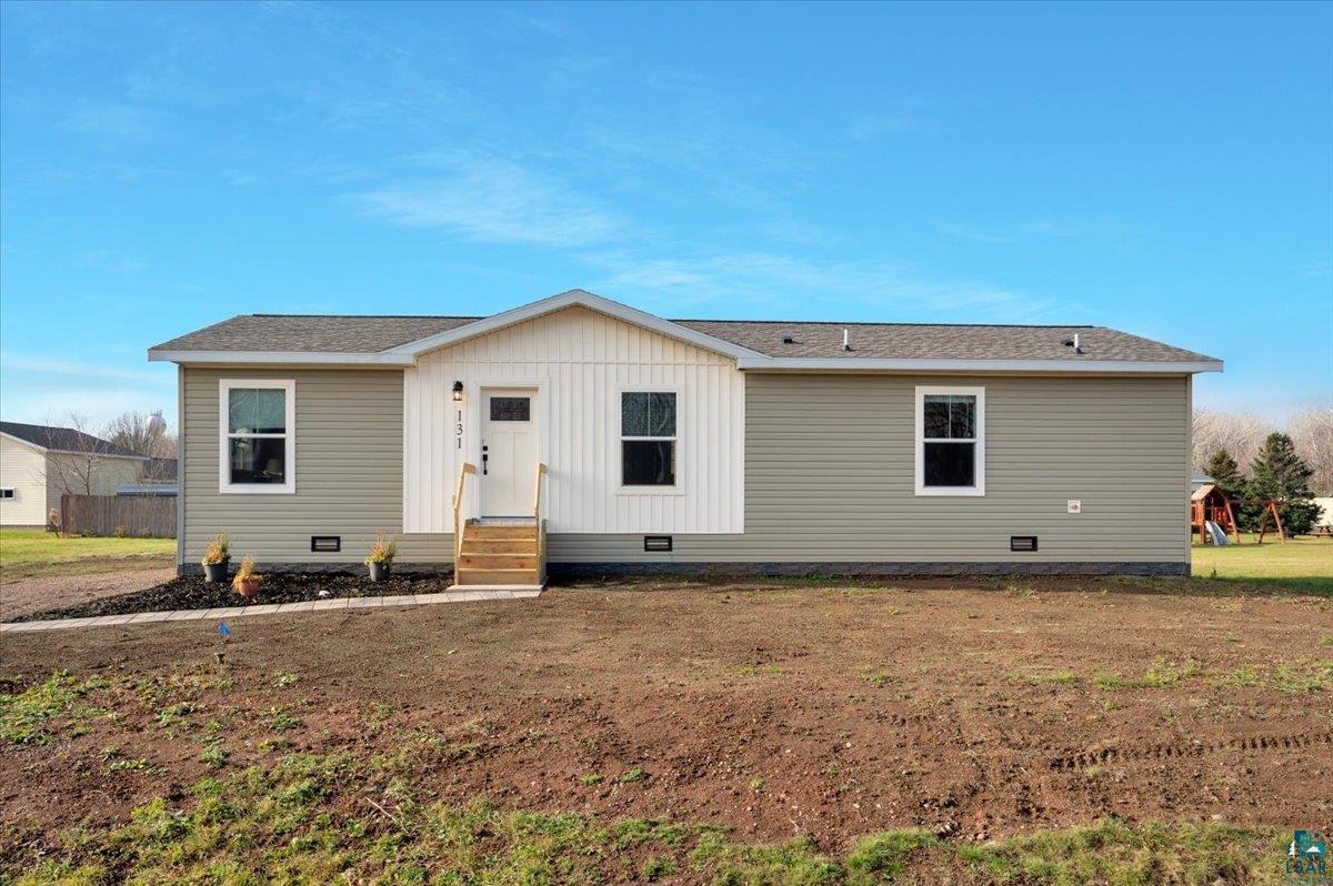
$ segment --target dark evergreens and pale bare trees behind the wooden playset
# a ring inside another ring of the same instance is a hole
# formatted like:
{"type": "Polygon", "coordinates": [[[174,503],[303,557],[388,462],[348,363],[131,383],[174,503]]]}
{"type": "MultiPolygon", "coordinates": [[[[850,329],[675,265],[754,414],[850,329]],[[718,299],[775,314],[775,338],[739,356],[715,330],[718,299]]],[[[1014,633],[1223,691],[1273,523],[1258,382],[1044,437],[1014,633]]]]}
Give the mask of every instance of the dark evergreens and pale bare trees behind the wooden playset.
{"type": "MultiPolygon", "coordinates": [[[[1320,517],[1316,493],[1333,494],[1333,410],[1300,413],[1286,430],[1257,416],[1196,412],[1194,468],[1234,500],[1281,501],[1282,526],[1302,534],[1320,517]]],[[[1261,505],[1242,504],[1236,508],[1236,521],[1241,529],[1254,530],[1262,510],[1261,505]]]]}

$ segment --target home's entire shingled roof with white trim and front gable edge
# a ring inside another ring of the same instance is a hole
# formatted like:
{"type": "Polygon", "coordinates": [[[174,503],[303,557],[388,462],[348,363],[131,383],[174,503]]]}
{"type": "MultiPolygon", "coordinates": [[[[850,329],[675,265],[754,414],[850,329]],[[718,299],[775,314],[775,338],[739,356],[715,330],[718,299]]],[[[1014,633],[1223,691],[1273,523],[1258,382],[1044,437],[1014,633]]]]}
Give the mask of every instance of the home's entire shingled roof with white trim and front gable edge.
{"type": "Polygon", "coordinates": [[[1217,372],[1213,357],[1106,326],[664,320],[581,289],[488,317],[248,314],[152,348],[176,362],[413,365],[417,354],[583,305],[741,369],[1217,372]],[[849,349],[842,346],[844,330],[849,349]],[[1078,348],[1066,341],[1077,336],[1078,348]]]}

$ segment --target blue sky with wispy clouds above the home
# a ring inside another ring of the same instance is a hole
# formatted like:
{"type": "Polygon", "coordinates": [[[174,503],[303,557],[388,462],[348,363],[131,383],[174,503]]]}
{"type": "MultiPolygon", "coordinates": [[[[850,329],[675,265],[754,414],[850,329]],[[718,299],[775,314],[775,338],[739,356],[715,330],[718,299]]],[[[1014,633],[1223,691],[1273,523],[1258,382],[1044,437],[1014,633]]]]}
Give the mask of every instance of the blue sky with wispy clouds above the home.
{"type": "Polygon", "coordinates": [[[0,7],[0,409],[248,312],[1090,322],[1333,401],[1333,5],[0,7]]]}

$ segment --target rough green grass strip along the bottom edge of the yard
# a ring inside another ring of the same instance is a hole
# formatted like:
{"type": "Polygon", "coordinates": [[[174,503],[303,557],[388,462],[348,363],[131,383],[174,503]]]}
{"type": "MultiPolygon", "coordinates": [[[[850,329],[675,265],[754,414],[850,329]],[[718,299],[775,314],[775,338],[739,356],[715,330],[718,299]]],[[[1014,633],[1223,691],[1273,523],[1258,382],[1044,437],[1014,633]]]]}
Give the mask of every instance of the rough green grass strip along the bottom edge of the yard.
{"type": "Polygon", "coordinates": [[[986,845],[924,830],[874,834],[845,854],[808,838],[752,845],[716,825],[428,803],[351,753],[291,754],[197,782],[116,825],[29,846],[15,882],[595,883],[684,875],[713,883],[869,886],[1277,883],[1286,834],[1220,822],[1102,819],[986,845]]]}

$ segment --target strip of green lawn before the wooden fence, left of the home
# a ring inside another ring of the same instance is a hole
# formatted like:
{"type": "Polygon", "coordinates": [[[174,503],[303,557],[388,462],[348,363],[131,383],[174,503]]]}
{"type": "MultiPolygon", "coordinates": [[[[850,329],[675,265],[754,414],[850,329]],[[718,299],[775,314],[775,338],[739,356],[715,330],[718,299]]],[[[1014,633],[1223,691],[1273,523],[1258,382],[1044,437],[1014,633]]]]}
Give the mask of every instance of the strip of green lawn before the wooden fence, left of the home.
{"type": "Polygon", "coordinates": [[[41,529],[0,529],[0,581],[169,566],[175,538],[61,538],[41,529]]]}

